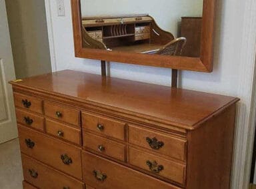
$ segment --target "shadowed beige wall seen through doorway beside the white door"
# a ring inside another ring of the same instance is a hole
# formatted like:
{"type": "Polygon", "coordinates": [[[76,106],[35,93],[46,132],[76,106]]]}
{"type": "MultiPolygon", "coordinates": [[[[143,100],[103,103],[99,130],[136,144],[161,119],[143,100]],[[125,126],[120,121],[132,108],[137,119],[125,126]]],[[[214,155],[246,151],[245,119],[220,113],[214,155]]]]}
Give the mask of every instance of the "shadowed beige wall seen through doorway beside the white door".
{"type": "Polygon", "coordinates": [[[16,77],[51,72],[45,1],[5,1],[16,77]]]}

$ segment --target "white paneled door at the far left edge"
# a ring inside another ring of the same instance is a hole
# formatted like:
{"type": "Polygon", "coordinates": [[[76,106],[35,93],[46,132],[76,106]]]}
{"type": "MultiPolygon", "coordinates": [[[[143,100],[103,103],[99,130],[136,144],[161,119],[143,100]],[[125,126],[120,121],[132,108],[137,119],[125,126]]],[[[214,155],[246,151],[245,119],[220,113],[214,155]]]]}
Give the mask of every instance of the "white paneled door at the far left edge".
{"type": "Polygon", "coordinates": [[[0,144],[17,137],[13,94],[8,81],[15,79],[5,0],[0,0],[0,144]]]}

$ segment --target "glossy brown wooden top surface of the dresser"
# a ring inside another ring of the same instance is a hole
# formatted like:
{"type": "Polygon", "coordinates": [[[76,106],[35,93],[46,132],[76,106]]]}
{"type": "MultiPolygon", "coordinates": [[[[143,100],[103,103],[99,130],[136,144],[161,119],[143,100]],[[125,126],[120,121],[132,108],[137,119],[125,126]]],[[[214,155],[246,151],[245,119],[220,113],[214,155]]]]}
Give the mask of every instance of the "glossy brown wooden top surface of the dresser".
{"type": "Polygon", "coordinates": [[[137,116],[158,118],[187,129],[193,129],[239,100],[230,96],[171,89],[69,70],[10,83],[39,92],[61,94],[82,102],[97,103],[99,106],[102,104],[115,110],[133,112],[137,116]]]}

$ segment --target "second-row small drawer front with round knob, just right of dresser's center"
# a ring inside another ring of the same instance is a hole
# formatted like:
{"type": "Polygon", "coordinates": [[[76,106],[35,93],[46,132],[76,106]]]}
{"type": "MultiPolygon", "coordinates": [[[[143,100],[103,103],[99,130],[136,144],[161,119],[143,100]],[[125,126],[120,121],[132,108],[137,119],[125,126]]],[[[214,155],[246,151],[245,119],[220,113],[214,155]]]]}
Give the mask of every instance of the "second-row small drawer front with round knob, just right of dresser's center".
{"type": "Polygon", "coordinates": [[[117,160],[125,161],[125,144],[83,132],[83,146],[117,160]]]}

